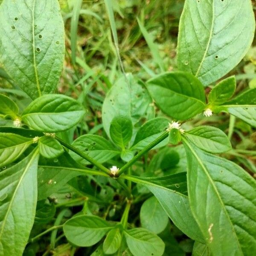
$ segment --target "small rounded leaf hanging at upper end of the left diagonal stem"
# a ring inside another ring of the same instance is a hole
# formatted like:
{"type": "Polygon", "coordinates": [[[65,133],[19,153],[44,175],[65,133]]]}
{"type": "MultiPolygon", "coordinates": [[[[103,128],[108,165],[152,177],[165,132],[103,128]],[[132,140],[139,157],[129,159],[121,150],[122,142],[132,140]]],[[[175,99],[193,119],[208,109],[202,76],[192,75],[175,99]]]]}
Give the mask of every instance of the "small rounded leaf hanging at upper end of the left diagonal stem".
{"type": "Polygon", "coordinates": [[[41,137],[38,140],[38,146],[40,154],[46,158],[55,158],[64,152],[61,143],[50,136],[41,137]]]}

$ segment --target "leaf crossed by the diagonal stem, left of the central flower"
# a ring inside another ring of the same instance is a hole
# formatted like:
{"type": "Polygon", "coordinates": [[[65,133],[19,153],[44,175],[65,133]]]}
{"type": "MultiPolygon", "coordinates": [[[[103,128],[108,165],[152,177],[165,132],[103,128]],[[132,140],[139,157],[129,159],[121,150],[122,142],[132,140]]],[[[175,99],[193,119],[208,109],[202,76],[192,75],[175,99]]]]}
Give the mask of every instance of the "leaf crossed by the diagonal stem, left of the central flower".
{"type": "MultiPolygon", "coordinates": [[[[113,145],[99,135],[85,134],[76,139],[73,146],[84,151],[88,156],[92,157],[99,163],[104,163],[111,158],[115,157],[120,152],[113,147],[113,145]]],[[[87,160],[84,160],[79,155],[70,152],[71,156],[81,164],[90,164],[87,160]]]]}

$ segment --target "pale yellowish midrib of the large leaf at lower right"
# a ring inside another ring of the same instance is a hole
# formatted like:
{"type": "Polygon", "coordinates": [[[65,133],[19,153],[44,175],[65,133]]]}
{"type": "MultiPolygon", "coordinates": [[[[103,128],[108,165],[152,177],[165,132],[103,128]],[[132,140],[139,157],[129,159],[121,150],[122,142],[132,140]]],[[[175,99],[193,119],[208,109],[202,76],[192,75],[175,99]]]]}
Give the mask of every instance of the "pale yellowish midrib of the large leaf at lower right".
{"type": "MultiPolygon", "coordinates": [[[[226,213],[226,216],[227,216],[228,220],[230,221],[230,224],[231,224],[230,226],[231,226],[231,228],[232,228],[232,230],[233,230],[233,234],[235,234],[235,237],[236,237],[236,240],[237,240],[237,244],[238,244],[238,246],[239,246],[239,248],[240,248],[241,255],[243,255],[243,251],[241,250],[241,245],[240,245],[240,243],[239,243],[239,239],[238,239],[238,237],[237,237],[236,231],[234,230],[233,222],[232,222],[231,219],[230,219],[230,216],[229,216],[229,214],[228,214],[228,212],[227,212],[227,209],[226,209],[226,207],[225,207],[225,205],[224,205],[224,203],[223,203],[223,201],[222,201],[222,199],[221,199],[221,195],[219,194],[218,189],[216,188],[216,186],[215,186],[215,184],[214,184],[214,181],[212,180],[212,177],[211,177],[211,176],[209,175],[209,173],[207,172],[207,168],[204,166],[204,163],[201,161],[201,159],[198,157],[198,155],[196,154],[196,152],[194,151],[194,149],[190,146],[190,144],[188,143],[188,141],[187,141],[184,137],[183,137],[183,142],[189,147],[190,151],[191,151],[192,154],[195,156],[195,158],[196,158],[196,160],[198,161],[199,165],[201,166],[201,168],[204,170],[205,174],[207,175],[209,182],[212,184],[212,187],[213,187],[213,189],[214,189],[214,191],[215,191],[215,193],[216,193],[216,195],[217,195],[217,197],[218,197],[218,200],[219,200],[219,202],[221,203],[221,205],[222,205],[222,207],[223,207],[223,210],[224,210],[224,212],[226,213]]],[[[197,219],[196,216],[194,216],[194,217],[195,217],[195,219],[197,219]]],[[[199,221],[197,220],[197,222],[199,222],[199,221]]],[[[199,225],[198,225],[198,226],[199,226],[199,225]]],[[[200,226],[199,226],[199,227],[200,227],[200,226]]],[[[202,231],[202,230],[201,230],[201,231],[202,231]]]]}

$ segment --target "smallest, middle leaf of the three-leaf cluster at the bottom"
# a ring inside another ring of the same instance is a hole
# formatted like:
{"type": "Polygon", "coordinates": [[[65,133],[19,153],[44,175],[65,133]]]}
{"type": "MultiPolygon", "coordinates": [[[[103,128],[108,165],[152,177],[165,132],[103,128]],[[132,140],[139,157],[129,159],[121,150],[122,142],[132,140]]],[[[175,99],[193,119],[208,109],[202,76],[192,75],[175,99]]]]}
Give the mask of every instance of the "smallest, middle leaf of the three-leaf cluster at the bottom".
{"type": "Polygon", "coordinates": [[[103,243],[104,253],[106,254],[115,253],[119,249],[121,245],[121,241],[122,241],[122,237],[121,237],[120,230],[118,228],[110,230],[103,243]]]}

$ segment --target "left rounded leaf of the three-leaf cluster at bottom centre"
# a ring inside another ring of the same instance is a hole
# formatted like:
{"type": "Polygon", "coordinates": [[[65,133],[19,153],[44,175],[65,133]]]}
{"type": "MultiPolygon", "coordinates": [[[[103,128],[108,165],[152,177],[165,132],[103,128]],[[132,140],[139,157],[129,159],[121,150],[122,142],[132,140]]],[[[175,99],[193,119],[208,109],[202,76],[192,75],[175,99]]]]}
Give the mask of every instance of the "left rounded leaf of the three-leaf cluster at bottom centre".
{"type": "Polygon", "coordinates": [[[63,230],[71,243],[87,247],[99,242],[113,227],[114,224],[97,216],[80,215],[66,221],[63,230]]]}

